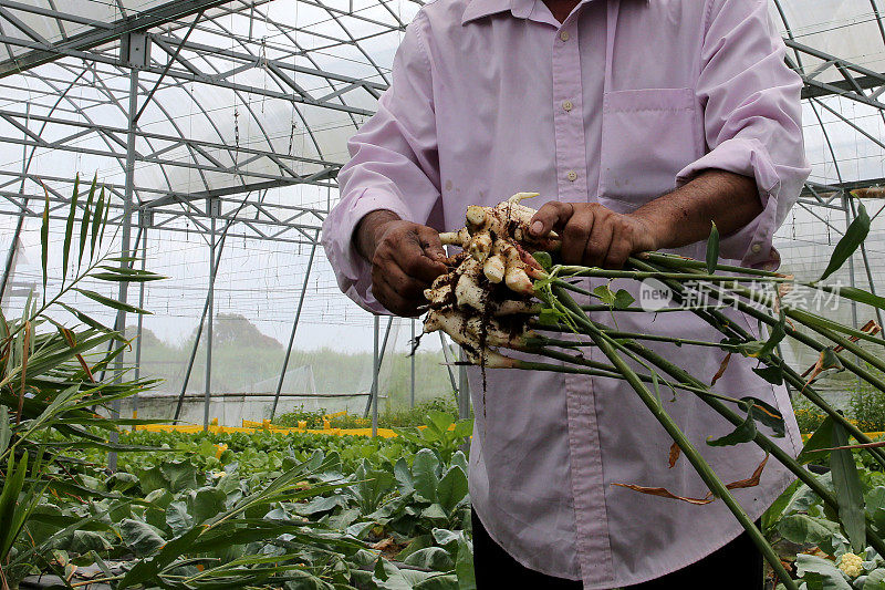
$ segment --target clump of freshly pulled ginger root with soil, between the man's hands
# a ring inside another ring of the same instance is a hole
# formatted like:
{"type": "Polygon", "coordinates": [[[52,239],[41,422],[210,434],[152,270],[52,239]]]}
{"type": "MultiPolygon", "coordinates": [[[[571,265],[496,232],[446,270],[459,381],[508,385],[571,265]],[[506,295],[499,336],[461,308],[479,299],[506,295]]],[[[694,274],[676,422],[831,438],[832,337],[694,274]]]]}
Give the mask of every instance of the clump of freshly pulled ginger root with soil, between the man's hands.
{"type": "Polygon", "coordinates": [[[529,232],[535,210],[520,201],[537,196],[518,193],[494,207],[471,205],[466,227],[439,235],[444,245],[464,251],[424,292],[430,302],[424,332],[442,330],[473,364],[510,366],[510,359],[490,346],[519,349],[535,335],[528,329],[530,314],[540,309],[531,301],[532,280],[545,273],[530,251],[554,249],[559,241],[555,235],[534,239],[529,232]]]}

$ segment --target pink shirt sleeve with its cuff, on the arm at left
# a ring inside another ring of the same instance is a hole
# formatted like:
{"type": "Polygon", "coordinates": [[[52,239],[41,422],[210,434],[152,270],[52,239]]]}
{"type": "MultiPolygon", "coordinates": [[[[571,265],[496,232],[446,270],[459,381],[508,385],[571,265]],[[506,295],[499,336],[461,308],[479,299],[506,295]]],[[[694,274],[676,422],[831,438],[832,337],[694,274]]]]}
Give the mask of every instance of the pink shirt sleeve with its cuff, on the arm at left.
{"type": "Polygon", "coordinates": [[[353,246],[368,213],[387,209],[426,224],[439,199],[439,158],[429,53],[423,11],[406,28],[394,56],[389,89],[378,108],[347,142],[351,161],[339,173],[341,200],[323,222],[322,245],[341,290],[375,313],[371,266],[353,246]]]}

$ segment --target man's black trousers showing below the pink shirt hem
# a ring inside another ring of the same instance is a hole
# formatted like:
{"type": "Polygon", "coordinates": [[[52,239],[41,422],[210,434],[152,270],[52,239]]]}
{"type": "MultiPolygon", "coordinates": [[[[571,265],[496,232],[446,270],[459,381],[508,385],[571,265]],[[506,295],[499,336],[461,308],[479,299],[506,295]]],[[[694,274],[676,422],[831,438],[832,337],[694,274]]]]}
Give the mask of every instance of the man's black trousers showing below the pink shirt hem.
{"type": "MultiPolygon", "coordinates": [[[[473,524],[473,567],[477,590],[581,590],[581,582],[554,578],[522,566],[496,544],[477,514],[473,524]]],[[[636,590],[762,590],[762,555],[746,532],[700,561],[673,573],[631,586],[636,590]],[[718,581],[716,581],[718,580],[718,581]]]]}

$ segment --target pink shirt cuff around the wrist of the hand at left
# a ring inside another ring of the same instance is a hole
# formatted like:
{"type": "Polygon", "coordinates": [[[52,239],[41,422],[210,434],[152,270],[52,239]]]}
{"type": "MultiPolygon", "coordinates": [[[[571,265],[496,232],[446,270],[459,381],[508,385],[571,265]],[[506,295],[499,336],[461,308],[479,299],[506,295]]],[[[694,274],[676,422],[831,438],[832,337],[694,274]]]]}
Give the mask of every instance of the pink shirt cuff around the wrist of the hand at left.
{"type": "Polygon", "coordinates": [[[403,200],[386,190],[366,188],[348,195],[323,221],[321,242],[335,271],[341,290],[357,306],[372,313],[389,314],[372,293],[372,266],[356,251],[353,234],[360,220],[372,211],[386,209],[409,220],[403,200]]]}

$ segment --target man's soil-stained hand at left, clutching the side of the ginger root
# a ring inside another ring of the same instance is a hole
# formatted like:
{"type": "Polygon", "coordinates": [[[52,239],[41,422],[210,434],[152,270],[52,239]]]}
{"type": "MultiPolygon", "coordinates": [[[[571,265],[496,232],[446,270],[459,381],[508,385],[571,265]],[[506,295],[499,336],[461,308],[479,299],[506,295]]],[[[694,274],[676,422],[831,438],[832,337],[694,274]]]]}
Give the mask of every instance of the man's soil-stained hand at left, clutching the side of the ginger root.
{"type": "Polygon", "coordinates": [[[363,258],[372,262],[375,299],[397,315],[419,315],[419,308],[427,303],[424,290],[446,272],[439,234],[379,210],[363,217],[354,241],[363,258]]]}

